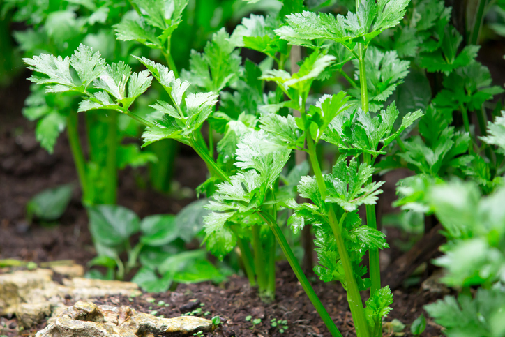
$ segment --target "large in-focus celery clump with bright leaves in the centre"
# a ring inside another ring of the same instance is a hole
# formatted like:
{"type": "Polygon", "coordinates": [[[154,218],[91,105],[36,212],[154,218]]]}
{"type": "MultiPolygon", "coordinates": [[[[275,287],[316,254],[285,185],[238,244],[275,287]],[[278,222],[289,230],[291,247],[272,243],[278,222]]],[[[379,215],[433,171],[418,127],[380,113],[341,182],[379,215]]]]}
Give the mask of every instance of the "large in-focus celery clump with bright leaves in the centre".
{"type": "MultiPolygon", "coordinates": [[[[372,182],[373,165],[377,156],[386,153],[386,147],[421,113],[405,115],[400,127],[393,130],[398,109],[394,103],[383,109],[383,102],[402,82],[407,69],[395,53],[374,52],[370,53],[373,58],[367,58],[367,50],[372,38],[398,24],[407,3],[406,0],[363,1],[357,3],[356,14],[349,12],[347,17],[334,17],[302,12],[300,2],[300,6],[285,9],[283,13],[294,14],[282,16],[282,20],[264,21],[266,35],[260,38],[247,24],[232,36],[224,31],[216,33],[204,55],[193,54],[192,68],[184,73],[194,81],[193,87],[165,66],[139,57],[137,59],[147,70],[128,81],[128,77],[123,76],[124,65],[107,66],[110,80],[94,81],[92,93],[82,91],[81,110],[116,110],[132,117],[146,126],[142,135],[144,146],[174,139],[193,147],[211,173],[211,178],[200,188],[214,199],[209,203],[213,212],[206,217],[208,248],[222,256],[239,246],[251,283],[256,280],[266,296],[272,296],[275,244],[279,244],[331,334],[341,336],[287,244],[278,225],[279,212],[294,211],[289,218],[294,230],[300,230],[306,223],[315,225],[320,264],[315,271],[323,280],[339,280],[345,286],[358,335],[379,336],[381,320],[390,310],[392,294],[388,287],[381,287],[379,279],[377,252],[386,246],[386,241],[375,224],[373,204],[381,192],[381,184],[372,182]],[[276,29],[283,20],[286,24],[276,29]],[[294,74],[284,70],[289,47],[283,41],[312,50],[294,74]],[[262,68],[258,68],[246,62],[236,74],[233,67],[238,65],[233,60],[224,64],[218,62],[237,57],[233,51],[240,46],[270,54],[278,69],[272,69],[272,63],[263,63],[262,68]],[[380,60],[376,61],[377,58],[380,60]],[[349,82],[356,86],[355,90],[349,90],[350,96],[344,92],[325,95],[315,105],[309,105],[312,83],[333,75],[333,71],[341,72],[343,63],[352,59],[357,60],[355,75],[359,85],[349,77],[349,82]],[[149,87],[151,75],[165,89],[169,101],[158,101],[153,105],[156,112],[144,119],[128,110],[128,98],[144,92],[149,87]],[[264,81],[276,82],[276,92],[263,95],[264,81]],[[227,114],[225,112],[232,109],[224,104],[221,111],[215,111],[220,97],[216,91],[232,82],[236,88],[233,96],[223,93],[221,99],[252,114],[227,114]],[[123,93],[120,96],[116,90],[119,88],[123,93]],[[188,89],[205,91],[188,93],[188,89]],[[242,106],[244,102],[237,98],[248,95],[258,98],[254,104],[242,106]],[[284,100],[285,96],[289,100],[284,100]],[[371,103],[378,114],[368,111],[371,103]],[[283,107],[299,110],[301,117],[277,114],[283,107]],[[216,146],[218,160],[213,156],[212,133],[208,142],[202,135],[204,123],[224,133],[216,146]],[[341,153],[329,174],[323,174],[316,156],[320,140],[336,144],[341,153]],[[298,204],[294,201],[296,195],[282,193],[280,176],[293,149],[306,151],[310,158],[315,175],[298,179],[297,190],[312,203],[298,204]],[[347,156],[354,158],[347,160],[347,156]],[[367,226],[361,225],[357,214],[362,204],[367,207],[367,226]],[[265,247],[268,250],[264,251],[265,247]],[[367,250],[370,251],[370,280],[363,278],[366,269],[360,265],[367,250]],[[371,294],[363,308],[359,291],[368,287],[371,287],[371,294]]],[[[254,20],[262,22],[259,17],[254,20]]],[[[50,59],[51,62],[43,66],[34,59],[33,68],[49,78],[41,83],[61,84],[57,75],[60,71],[67,74],[68,64],[56,57],[50,59]]],[[[93,70],[93,66],[90,65],[89,70],[93,70]]]]}

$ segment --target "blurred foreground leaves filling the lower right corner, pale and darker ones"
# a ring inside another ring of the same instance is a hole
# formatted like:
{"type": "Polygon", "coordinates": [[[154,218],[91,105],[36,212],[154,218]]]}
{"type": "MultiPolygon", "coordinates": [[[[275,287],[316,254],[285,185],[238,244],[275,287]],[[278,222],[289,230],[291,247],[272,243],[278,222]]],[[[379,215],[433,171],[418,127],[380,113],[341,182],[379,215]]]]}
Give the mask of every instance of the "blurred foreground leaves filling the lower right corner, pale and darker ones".
{"type": "Polygon", "coordinates": [[[503,287],[505,267],[505,188],[481,196],[472,182],[439,182],[427,188],[423,197],[435,212],[449,240],[444,255],[435,260],[443,267],[443,283],[468,289],[483,286],[474,297],[447,296],[425,306],[447,336],[501,336],[503,334],[503,287]],[[455,320],[460,323],[455,324],[455,320]]]}

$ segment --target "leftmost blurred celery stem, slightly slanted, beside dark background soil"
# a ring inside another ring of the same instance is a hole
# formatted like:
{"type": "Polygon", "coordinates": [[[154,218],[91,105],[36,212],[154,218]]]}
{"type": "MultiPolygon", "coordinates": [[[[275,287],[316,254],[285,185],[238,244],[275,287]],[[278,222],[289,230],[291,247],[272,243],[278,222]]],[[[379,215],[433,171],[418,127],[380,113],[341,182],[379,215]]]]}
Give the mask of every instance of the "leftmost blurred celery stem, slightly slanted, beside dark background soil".
{"type": "Polygon", "coordinates": [[[77,177],[82,189],[82,200],[84,204],[90,202],[87,199],[88,195],[88,179],[86,176],[86,160],[82,152],[81,142],[79,140],[79,133],[77,132],[77,112],[70,110],[67,118],[67,135],[72,156],[74,158],[75,168],[77,169],[77,177]]]}

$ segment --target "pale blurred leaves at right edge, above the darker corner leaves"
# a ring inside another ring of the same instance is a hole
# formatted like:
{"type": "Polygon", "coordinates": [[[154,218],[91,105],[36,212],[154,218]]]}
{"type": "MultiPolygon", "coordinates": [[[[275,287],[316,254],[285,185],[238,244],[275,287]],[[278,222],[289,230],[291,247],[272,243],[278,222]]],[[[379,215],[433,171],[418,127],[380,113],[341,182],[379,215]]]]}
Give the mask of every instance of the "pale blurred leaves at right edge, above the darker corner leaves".
{"type": "Polygon", "coordinates": [[[481,197],[475,184],[455,182],[433,187],[428,197],[446,236],[453,239],[436,260],[446,269],[444,283],[467,286],[502,280],[505,211],[498,205],[505,197],[503,186],[481,197]]]}

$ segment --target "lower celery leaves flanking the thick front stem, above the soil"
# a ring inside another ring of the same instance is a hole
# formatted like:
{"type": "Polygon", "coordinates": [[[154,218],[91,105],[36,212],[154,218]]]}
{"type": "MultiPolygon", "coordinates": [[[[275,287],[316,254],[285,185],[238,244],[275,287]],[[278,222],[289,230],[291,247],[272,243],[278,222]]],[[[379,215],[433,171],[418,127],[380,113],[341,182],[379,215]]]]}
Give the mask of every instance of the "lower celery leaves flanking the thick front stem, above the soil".
{"type": "Polygon", "coordinates": [[[342,284],[346,284],[336,239],[327,216],[327,209],[333,207],[332,203],[338,205],[334,209],[338,218],[343,219],[341,228],[345,248],[349,252],[354,274],[362,290],[370,285],[370,280],[362,279],[366,269],[359,265],[361,258],[370,248],[387,247],[384,234],[371,227],[362,226],[361,219],[356,213],[361,204],[375,204],[376,195],[382,192],[378,190],[381,183],[368,184],[371,174],[372,167],[365,164],[358,167],[354,158],[347,164],[347,160],[342,156],[333,167],[333,172],[323,176],[329,193],[326,200],[322,200],[315,179],[306,176],[301,178],[298,191],[301,197],[312,200],[313,204],[297,204],[294,200],[282,202],[282,206],[294,210],[288,224],[296,232],[306,223],[316,226],[315,246],[319,266],[315,267],[314,271],[324,282],[339,280],[342,284]]]}

